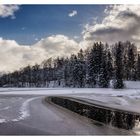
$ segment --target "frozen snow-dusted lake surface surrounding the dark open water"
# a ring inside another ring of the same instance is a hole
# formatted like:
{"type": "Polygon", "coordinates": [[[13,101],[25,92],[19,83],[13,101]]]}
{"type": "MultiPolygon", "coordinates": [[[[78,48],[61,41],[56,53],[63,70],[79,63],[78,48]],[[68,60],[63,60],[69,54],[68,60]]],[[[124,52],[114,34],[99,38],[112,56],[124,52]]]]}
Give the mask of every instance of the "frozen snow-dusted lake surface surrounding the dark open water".
{"type": "Polygon", "coordinates": [[[44,102],[46,96],[67,96],[139,112],[139,90],[112,89],[0,89],[0,134],[6,135],[139,135],[93,121],[44,102]],[[114,94],[115,93],[115,94],[114,94]],[[132,94],[134,93],[134,94],[132,94]],[[135,110],[134,110],[135,109],[135,110]],[[58,129],[59,128],[59,129],[58,129]]]}

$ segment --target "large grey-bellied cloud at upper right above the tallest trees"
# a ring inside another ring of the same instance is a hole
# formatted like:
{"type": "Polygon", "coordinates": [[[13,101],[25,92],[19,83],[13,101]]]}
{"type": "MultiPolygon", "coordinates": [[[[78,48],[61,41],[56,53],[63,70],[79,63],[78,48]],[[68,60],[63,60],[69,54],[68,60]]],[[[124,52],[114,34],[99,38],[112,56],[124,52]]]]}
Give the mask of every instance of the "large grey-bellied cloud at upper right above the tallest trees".
{"type": "Polygon", "coordinates": [[[101,23],[86,24],[82,34],[86,41],[130,40],[140,45],[140,5],[111,5],[101,23]]]}

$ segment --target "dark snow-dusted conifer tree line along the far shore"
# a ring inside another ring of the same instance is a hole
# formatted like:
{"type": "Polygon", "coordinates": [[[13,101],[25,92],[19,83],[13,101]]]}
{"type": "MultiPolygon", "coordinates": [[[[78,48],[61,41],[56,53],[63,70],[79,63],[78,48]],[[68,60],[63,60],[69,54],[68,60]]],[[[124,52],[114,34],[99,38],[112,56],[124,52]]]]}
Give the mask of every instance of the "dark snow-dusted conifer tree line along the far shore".
{"type": "Polygon", "coordinates": [[[140,80],[140,55],[135,44],[95,42],[70,57],[49,58],[3,74],[1,87],[101,87],[124,88],[124,80],[140,80]]]}

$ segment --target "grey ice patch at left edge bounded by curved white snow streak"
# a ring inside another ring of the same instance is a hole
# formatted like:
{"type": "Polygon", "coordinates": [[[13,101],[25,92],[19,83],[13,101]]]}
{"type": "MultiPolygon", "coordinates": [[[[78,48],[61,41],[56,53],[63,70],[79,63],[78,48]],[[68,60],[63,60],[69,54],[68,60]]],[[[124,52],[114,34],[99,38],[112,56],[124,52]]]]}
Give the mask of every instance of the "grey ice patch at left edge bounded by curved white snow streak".
{"type": "Polygon", "coordinates": [[[40,97],[1,97],[0,101],[0,123],[17,122],[30,117],[29,104],[40,97]],[[4,99],[2,99],[4,98],[4,99]]]}

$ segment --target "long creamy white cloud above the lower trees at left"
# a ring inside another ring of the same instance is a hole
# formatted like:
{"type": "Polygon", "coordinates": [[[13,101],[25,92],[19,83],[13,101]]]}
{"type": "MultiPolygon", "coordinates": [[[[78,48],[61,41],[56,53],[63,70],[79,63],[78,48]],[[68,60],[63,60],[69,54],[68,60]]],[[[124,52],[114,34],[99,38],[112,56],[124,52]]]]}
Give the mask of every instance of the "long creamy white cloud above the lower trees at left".
{"type": "Polygon", "coordinates": [[[31,46],[0,38],[0,71],[14,71],[49,57],[69,56],[78,50],[78,44],[64,35],[52,35],[31,46]]]}

